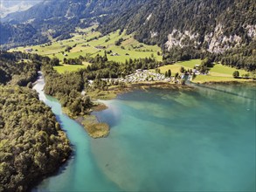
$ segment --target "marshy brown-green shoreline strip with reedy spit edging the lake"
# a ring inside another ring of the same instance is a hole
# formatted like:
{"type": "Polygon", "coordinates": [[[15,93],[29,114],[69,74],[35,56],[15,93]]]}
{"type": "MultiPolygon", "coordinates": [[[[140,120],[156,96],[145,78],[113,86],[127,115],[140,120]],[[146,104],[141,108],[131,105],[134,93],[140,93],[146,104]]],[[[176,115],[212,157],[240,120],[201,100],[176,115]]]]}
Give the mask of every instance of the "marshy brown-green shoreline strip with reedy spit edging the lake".
{"type": "MultiPolygon", "coordinates": [[[[255,80],[250,81],[209,81],[204,83],[194,83],[191,82],[193,85],[250,85],[250,86],[256,86],[255,80]]],[[[76,120],[84,129],[86,130],[86,133],[93,139],[100,139],[107,137],[108,134],[110,134],[110,127],[105,122],[100,122],[97,119],[97,116],[92,114],[93,112],[100,112],[103,110],[106,110],[108,107],[101,103],[99,99],[102,100],[111,100],[115,99],[118,95],[128,92],[133,92],[137,89],[140,90],[147,90],[150,88],[159,88],[159,89],[169,89],[174,91],[193,91],[196,87],[191,85],[181,85],[176,83],[170,83],[170,82],[163,82],[163,81],[155,81],[155,82],[137,82],[132,84],[127,84],[126,86],[110,86],[107,91],[98,91],[99,97],[95,97],[93,95],[93,106],[88,114],[85,115],[77,115],[73,116],[71,113],[69,113],[65,107],[63,108],[63,113],[66,113],[70,118],[73,120],[76,120]]],[[[95,93],[95,92],[89,92],[95,93]]]]}

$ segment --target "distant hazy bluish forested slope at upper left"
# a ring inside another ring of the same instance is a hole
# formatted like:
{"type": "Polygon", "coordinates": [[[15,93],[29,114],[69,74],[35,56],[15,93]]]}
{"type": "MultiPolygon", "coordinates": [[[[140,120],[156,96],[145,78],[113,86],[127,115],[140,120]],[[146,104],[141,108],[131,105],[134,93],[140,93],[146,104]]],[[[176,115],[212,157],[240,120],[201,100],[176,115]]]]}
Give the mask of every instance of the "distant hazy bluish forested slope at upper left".
{"type": "Polygon", "coordinates": [[[59,0],[38,3],[29,10],[1,19],[0,44],[5,47],[42,44],[49,37],[57,38],[75,30],[99,24],[102,17],[125,11],[147,0],[59,0]]]}

